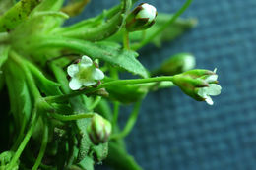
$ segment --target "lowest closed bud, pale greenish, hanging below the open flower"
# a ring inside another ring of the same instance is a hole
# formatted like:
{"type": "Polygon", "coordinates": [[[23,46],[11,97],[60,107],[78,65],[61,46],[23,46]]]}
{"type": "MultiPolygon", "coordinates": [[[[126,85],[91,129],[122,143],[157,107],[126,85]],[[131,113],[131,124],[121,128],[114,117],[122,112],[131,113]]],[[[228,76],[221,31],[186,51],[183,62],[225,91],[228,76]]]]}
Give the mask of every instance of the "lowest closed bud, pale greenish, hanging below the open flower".
{"type": "Polygon", "coordinates": [[[87,132],[91,141],[94,144],[99,144],[107,142],[111,134],[112,126],[111,124],[100,115],[95,114],[91,120],[90,126],[87,128],[87,132]]]}

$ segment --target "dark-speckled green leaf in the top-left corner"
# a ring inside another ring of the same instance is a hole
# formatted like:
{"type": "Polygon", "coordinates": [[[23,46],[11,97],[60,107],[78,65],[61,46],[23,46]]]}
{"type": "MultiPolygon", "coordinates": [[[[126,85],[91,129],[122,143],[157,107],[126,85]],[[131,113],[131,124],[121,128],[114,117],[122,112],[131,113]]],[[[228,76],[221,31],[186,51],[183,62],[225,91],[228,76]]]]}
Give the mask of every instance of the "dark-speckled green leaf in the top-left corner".
{"type": "Polygon", "coordinates": [[[40,3],[38,0],[21,0],[0,17],[0,32],[10,31],[25,21],[32,10],[40,3]]]}

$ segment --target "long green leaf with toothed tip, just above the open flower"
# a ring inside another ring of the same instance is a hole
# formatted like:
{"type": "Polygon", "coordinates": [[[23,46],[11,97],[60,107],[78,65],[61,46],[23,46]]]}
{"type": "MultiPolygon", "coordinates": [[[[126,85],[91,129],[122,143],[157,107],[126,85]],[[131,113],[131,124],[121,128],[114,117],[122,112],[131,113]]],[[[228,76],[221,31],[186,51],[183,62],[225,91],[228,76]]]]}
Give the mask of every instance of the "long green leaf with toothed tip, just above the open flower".
{"type": "Polygon", "coordinates": [[[86,54],[93,59],[103,60],[112,65],[123,68],[133,74],[148,77],[147,70],[136,59],[138,53],[132,50],[123,50],[117,43],[101,42],[92,43],[89,41],[73,38],[47,37],[37,40],[33,46],[37,50],[43,48],[70,48],[76,52],[86,54]]]}

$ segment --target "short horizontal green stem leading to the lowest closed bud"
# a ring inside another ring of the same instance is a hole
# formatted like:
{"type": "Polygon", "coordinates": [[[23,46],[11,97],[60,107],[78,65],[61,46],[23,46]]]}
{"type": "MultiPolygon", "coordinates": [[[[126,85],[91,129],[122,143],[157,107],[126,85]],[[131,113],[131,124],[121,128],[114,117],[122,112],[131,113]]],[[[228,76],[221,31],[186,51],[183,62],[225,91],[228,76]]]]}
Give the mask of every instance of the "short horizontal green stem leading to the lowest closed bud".
{"type": "Polygon", "coordinates": [[[58,119],[60,121],[74,121],[78,119],[84,119],[84,118],[92,118],[96,113],[90,112],[90,113],[85,113],[85,114],[78,114],[78,115],[61,115],[58,113],[50,113],[50,115],[58,119]]]}

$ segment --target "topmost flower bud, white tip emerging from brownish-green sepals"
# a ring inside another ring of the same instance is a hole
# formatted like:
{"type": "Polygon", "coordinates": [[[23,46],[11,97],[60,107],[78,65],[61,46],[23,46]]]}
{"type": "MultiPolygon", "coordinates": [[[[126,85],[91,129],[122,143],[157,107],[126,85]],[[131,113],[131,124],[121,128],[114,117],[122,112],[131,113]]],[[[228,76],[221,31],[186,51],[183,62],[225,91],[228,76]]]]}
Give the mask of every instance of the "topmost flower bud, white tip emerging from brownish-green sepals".
{"type": "Polygon", "coordinates": [[[154,6],[142,3],[127,17],[125,28],[127,31],[144,30],[154,25],[158,13],[154,6]]]}

